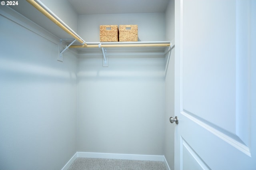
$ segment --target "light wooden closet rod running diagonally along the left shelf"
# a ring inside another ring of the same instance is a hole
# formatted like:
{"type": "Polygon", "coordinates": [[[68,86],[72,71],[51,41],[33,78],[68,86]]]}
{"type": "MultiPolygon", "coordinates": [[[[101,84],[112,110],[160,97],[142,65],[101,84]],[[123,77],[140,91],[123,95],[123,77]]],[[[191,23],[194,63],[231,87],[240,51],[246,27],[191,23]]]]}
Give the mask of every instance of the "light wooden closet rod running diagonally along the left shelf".
{"type": "MultiPolygon", "coordinates": [[[[39,10],[40,12],[42,12],[42,14],[44,14],[47,18],[49,18],[52,22],[54,22],[57,26],[59,26],[60,28],[62,28],[62,30],[64,30],[65,32],[67,32],[68,34],[70,34],[72,37],[74,37],[78,42],[82,43],[83,45],[80,45],[81,47],[87,47],[88,45],[85,43],[84,40],[82,40],[82,38],[76,36],[76,33],[71,32],[68,28],[66,28],[62,23],[60,23],[58,20],[56,20],[56,18],[54,18],[53,16],[55,14],[50,14],[48,11],[46,11],[44,8],[42,8],[42,6],[40,6],[37,2],[35,2],[34,0],[26,0],[28,3],[30,3],[32,6],[34,6],[37,10],[39,10]]],[[[66,24],[65,24],[66,25],[66,24]]]]}

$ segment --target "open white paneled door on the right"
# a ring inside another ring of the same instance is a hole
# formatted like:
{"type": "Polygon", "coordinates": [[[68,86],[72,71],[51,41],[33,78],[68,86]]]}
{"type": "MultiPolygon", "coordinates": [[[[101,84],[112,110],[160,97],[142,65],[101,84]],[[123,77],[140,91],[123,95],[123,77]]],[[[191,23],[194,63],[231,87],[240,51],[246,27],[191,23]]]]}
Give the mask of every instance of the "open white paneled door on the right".
{"type": "Polygon", "coordinates": [[[175,1],[175,169],[256,169],[256,0],[175,1]]]}

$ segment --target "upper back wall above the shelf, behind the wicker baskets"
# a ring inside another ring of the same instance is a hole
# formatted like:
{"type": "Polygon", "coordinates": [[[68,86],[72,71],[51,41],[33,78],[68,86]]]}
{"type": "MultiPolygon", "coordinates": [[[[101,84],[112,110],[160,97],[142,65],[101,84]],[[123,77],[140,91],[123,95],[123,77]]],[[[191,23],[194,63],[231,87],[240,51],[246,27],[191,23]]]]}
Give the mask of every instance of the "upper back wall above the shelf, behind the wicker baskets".
{"type": "Polygon", "coordinates": [[[100,25],[138,25],[138,41],[164,41],[164,13],[79,15],[78,34],[86,42],[100,41],[100,25]]]}

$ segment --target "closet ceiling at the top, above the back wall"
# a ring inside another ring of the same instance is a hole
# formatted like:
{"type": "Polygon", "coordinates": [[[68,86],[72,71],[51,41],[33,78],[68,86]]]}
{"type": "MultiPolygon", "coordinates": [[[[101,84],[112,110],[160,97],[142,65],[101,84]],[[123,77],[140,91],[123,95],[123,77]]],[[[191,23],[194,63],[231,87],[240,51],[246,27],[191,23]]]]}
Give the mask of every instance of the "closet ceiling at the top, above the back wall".
{"type": "Polygon", "coordinates": [[[169,0],[68,0],[79,15],[165,12],[169,0]]]}

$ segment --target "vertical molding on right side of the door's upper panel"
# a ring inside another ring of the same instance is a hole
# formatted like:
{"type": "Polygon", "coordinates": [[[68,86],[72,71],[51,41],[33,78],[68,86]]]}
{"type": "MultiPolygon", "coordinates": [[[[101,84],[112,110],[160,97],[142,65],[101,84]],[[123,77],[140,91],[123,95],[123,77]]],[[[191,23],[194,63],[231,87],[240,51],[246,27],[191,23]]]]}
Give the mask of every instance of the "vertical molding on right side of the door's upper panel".
{"type": "Polygon", "coordinates": [[[236,0],[236,134],[250,145],[250,1],[236,0]]]}

